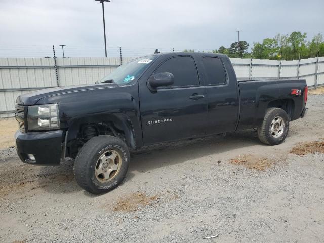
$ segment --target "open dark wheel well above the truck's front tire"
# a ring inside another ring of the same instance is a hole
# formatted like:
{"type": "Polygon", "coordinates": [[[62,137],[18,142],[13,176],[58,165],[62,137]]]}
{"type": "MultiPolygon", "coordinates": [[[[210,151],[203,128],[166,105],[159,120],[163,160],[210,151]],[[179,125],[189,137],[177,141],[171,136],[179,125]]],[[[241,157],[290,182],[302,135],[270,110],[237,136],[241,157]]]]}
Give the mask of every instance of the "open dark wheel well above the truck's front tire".
{"type": "Polygon", "coordinates": [[[110,135],[124,141],[130,149],[135,148],[134,130],[129,119],[118,116],[85,118],[75,121],[66,134],[65,156],[75,158],[80,148],[93,137],[110,135]]]}

